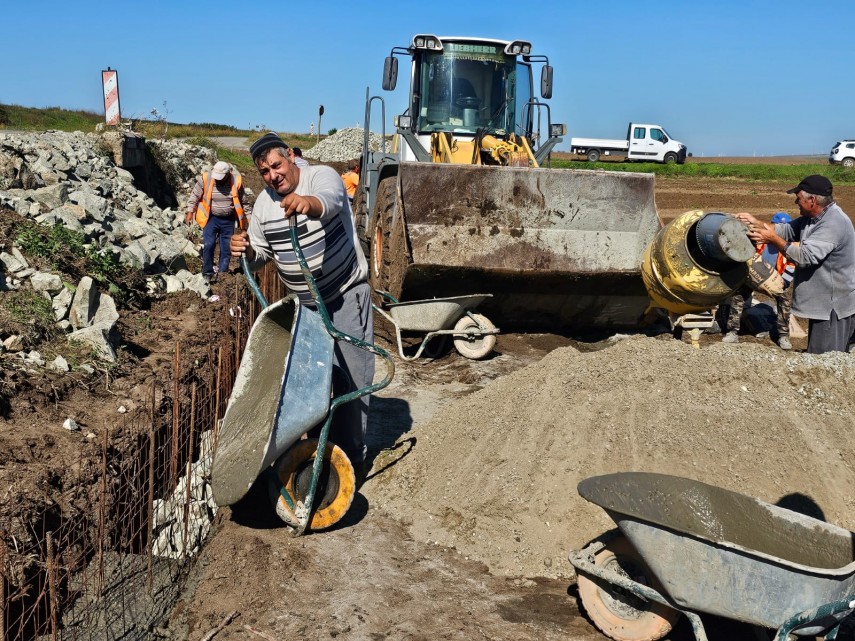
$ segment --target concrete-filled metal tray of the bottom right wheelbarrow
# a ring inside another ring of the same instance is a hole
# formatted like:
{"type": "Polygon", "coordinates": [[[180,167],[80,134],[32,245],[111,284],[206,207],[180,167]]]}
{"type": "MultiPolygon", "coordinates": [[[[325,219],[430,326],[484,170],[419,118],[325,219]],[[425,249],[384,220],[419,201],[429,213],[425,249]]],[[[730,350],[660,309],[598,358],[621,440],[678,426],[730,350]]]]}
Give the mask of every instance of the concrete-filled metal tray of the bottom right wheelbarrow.
{"type": "Polygon", "coordinates": [[[606,510],[678,608],[778,628],[853,593],[855,538],[835,525],[665,474],[595,476],[578,491],[606,510]]]}

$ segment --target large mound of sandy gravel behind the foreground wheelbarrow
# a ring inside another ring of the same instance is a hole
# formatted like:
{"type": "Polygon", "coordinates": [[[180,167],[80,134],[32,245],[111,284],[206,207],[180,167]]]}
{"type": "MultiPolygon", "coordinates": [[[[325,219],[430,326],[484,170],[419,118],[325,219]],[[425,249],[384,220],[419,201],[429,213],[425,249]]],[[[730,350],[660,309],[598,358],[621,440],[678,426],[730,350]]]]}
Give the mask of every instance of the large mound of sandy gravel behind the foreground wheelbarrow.
{"type": "Polygon", "coordinates": [[[416,538],[515,576],[572,575],[568,550],[613,527],[576,485],[609,472],[686,476],[772,503],[801,494],[853,529],[853,378],[847,354],[766,345],[638,336],[562,348],[448,405],[372,495],[409,515],[416,538]]]}

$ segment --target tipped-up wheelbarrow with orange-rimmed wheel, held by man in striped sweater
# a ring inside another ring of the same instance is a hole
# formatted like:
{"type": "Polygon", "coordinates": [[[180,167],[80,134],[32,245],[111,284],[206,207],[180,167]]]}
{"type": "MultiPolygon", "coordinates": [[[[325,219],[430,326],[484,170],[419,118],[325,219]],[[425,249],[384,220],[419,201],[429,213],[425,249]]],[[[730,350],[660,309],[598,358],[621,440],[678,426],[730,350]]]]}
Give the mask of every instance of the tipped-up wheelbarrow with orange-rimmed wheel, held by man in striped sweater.
{"type": "Polygon", "coordinates": [[[338,522],[356,492],[347,455],[328,441],[336,408],[386,387],[395,365],[386,350],[333,327],[297,242],[295,218],[291,243],[317,311],[300,305],[293,294],[268,305],[242,257],[244,273],[264,309],[247,337],[218,431],[211,484],[217,504],[232,505],[265,474],[277,515],[300,535],[308,527],[323,529],[338,522]],[[336,341],[380,356],[386,364],[383,380],[333,397],[336,341]],[[321,423],[318,439],[302,438],[321,423]]]}

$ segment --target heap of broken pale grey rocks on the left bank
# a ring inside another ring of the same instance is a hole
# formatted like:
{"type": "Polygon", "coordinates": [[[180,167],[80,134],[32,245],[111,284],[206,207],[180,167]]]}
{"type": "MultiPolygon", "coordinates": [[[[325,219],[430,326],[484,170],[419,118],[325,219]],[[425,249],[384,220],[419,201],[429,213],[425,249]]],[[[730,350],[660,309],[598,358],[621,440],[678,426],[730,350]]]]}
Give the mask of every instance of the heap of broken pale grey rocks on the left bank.
{"type": "MultiPolygon", "coordinates": [[[[116,165],[116,136],[0,134],[0,209],[78,232],[99,254],[112,254],[121,264],[151,274],[152,293],[188,288],[206,296],[203,277],[186,269],[184,257],[197,255],[198,249],[188,238],[182,212],[159,207],[137,189],[131,172],[116,165]]],[[[210,149],[180,142],[155,142],[151,149],[160,170],[184,193],[216,161],[210,149]]],[[[91,278],[67,285],[57,274],[30,267],[17,247],[0,253],[0,263],[0,291],[31,287],[42,293],[69,340],[90,343],[103,358],[115,358],[109,335],[118,320],[116,306],[91,278]]],[[[20,342],[13,336],[0,339],[10,351],[20,342]]]]}

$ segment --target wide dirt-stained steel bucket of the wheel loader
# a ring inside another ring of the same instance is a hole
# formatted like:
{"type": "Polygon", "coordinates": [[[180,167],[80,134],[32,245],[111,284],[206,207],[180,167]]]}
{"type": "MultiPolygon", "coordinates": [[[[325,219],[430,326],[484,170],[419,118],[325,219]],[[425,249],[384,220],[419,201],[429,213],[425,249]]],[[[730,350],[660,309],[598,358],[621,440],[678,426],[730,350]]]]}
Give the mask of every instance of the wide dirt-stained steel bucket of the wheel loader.
{"type": "Polygon", "coordinates": [[[387,224],[409,260],[390,288],[492,293],[482,311],[503,327],[637,327],[642,256],[662,225],[653,188],[653,174],[402,163],[387,224]]]}

